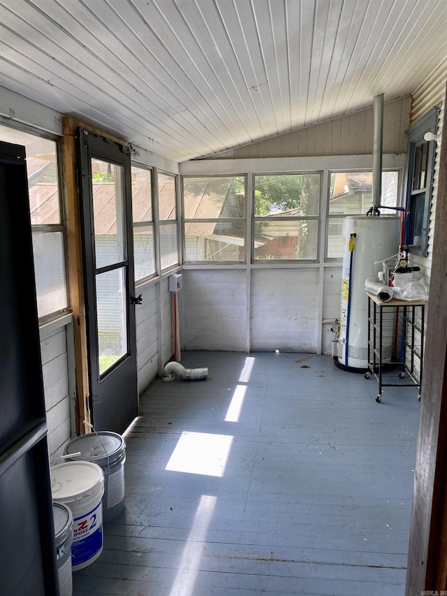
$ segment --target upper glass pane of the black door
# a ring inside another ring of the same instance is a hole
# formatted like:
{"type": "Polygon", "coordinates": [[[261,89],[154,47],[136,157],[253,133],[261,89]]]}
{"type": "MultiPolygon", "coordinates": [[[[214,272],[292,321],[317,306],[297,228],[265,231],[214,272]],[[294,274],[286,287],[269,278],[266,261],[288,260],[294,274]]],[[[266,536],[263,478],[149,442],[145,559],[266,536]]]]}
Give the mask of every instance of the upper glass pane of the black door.
{"type": "Polygon", "coordinates": [[[124,261],[124,168],[91,160],[96,268],[124,261]]]}

